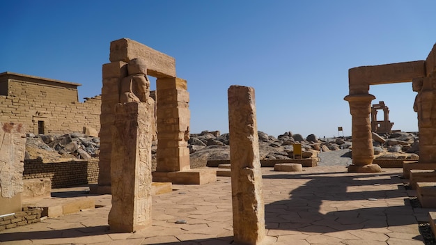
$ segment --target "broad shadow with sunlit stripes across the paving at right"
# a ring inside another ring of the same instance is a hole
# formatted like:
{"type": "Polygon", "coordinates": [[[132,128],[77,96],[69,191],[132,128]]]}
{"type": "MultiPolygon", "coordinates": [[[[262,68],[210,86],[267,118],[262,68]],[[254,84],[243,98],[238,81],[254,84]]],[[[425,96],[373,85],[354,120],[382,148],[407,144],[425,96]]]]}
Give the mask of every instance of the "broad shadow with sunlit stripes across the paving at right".
{"type": "Polygon", "coordinates": [[[309,173],[264,175],[263,179],[306,180],[290,198],[265,205],[267,228],[337,232],[416,224],[398,175],[309,173]]]}

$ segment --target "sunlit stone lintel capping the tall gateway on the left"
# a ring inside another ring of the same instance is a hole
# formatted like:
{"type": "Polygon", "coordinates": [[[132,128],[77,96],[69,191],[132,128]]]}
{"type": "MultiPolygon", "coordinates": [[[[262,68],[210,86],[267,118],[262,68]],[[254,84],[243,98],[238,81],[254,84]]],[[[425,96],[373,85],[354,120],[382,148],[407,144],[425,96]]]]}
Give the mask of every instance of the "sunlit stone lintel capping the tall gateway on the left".
{"type": "Polygon", "coordinates": [[[111,42],[109,61],[129,62],[133,58],[143,58],[146,61],[147,73],[150,76],[176,77],[176,60],[164,53],[158,52],[128,38],[111,42]]]}

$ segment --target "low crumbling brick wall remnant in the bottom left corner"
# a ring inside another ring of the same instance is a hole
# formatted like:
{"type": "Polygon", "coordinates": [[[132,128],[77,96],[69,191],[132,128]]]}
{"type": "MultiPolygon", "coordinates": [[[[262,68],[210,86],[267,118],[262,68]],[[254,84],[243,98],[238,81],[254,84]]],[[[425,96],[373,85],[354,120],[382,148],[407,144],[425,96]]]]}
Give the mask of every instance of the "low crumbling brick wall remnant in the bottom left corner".
{"type": "Polygon", "coordinates": [[[16,212],[13,215],[0,217],[0,230],[25,226],[29,223],[41,221],[42,208],[24,207],[22,212],[16,212]]]}

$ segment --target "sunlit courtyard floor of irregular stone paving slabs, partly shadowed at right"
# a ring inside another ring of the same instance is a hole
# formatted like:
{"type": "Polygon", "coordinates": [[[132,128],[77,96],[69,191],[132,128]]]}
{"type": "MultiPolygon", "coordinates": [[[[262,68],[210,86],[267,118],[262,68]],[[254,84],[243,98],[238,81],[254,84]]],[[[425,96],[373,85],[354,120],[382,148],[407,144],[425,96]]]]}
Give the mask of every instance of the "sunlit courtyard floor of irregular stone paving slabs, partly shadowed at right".
{"type": "MultiPolygon", "coordinates": [[[[272,244],[423,244],[418,223],[428,209],[413,208],[399,175],[346,173],[344,166],[274,172],[263,168],[267,235],[272,244]]],[[[104,207],[45,219],[0,232],[1,244],[230,244],[233,241],[230,177],[215,183],[174,185],[153,196],[153,226],[109,232],[110,195],[92,196],[104,207]],[[184,219],[185,224],[176,221],[184,219]]]]}

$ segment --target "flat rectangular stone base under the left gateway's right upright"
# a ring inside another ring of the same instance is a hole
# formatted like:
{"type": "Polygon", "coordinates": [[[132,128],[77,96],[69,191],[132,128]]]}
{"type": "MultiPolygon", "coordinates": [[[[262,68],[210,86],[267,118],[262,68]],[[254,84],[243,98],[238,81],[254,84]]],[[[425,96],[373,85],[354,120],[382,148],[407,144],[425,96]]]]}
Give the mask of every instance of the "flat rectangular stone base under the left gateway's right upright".
{"type": "Polygon", "coordinates": [[[173,184],[207,184],[217,181],[217,171],[212,169],[190,169],[179,172],[153,172],[154,182],[173,184]]]}

